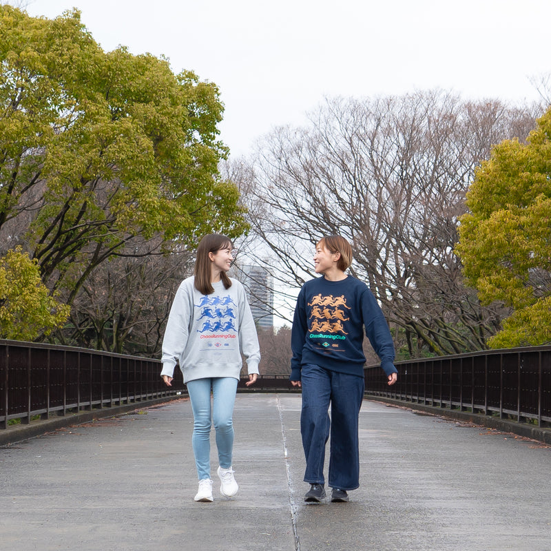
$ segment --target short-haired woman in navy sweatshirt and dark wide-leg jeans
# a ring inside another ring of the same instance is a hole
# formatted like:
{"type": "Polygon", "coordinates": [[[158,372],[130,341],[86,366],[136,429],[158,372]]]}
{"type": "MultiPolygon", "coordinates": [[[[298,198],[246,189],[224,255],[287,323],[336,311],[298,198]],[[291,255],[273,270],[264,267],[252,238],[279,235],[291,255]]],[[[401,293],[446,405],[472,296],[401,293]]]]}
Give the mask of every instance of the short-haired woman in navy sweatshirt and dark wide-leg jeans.
{"type": "Polygon", "coordinates": [[[394,344],[388,324],[366,284],[345,273],[352,248],[341,236],[322,238],[315,273],[298,295],[291,333],[293,386],[302,387],[300,432],[306,456],[304,501],[325,497],[325,445],[331,434],[331,501],[349,501],[360,486],[358,417],[364,397],[364,328],[380,357],[388,384],[395,384],[394,344]],[[331,404],[331,419],[329,405],[331,404]]]}

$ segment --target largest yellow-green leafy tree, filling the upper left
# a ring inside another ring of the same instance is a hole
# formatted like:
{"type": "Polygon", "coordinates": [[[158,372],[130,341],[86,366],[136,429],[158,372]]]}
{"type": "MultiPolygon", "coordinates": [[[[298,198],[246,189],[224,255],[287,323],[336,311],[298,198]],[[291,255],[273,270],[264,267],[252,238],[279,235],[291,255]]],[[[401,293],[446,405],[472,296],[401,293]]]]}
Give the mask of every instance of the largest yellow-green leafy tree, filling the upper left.
{"type": "Polygon", "coordinates": [[[246,231],[218,173],[216,85],[104,52],[76,10],[49,20],[0,6],[0,65],[0,242],[24,244],[67,304],[134,242],[143,256],[246,231]]]}

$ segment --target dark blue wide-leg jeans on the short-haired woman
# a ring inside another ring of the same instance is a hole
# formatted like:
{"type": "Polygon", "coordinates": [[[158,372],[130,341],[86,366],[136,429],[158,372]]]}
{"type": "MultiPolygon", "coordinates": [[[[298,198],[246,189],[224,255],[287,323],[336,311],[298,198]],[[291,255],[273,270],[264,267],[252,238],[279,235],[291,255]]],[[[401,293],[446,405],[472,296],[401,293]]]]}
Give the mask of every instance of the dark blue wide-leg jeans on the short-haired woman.
{"type": "Polygon", "coordinates": [[[325,446],[331,435],[329,486],[355,490],[360,486],[358,415],[364,397],[364,379],[306,364],[302,366],[301,382],[300,432],[306,457],[304,481],[325,483],[325,446]]]}

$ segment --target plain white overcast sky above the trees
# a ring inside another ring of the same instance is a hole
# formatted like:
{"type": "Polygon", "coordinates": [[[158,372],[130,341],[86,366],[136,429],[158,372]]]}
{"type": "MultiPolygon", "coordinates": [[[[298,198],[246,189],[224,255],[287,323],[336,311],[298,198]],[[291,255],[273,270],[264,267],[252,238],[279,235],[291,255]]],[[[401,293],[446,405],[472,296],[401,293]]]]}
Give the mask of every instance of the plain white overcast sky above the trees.
{"type": "Polygon", "coordinates": [[[324,96],[441,87],[464,98],[538,99],[551,72],[550,0],[23,0],[30,15],[81,10],[104,50],[169,58],[216,83],[220,137],[246,155],[324,96]]]}

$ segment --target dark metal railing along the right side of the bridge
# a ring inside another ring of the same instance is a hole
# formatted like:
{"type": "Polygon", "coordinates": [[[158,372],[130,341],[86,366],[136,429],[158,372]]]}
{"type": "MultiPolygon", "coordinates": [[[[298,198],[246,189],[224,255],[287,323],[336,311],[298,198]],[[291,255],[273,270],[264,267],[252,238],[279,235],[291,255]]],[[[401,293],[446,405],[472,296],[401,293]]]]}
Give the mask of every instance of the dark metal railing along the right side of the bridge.
{"type": "Polygon", "coordinates": [[[551,424],[551,346],[397,362],[398,382],[365,370],[366,393],[500,419],[551,424]]]}

